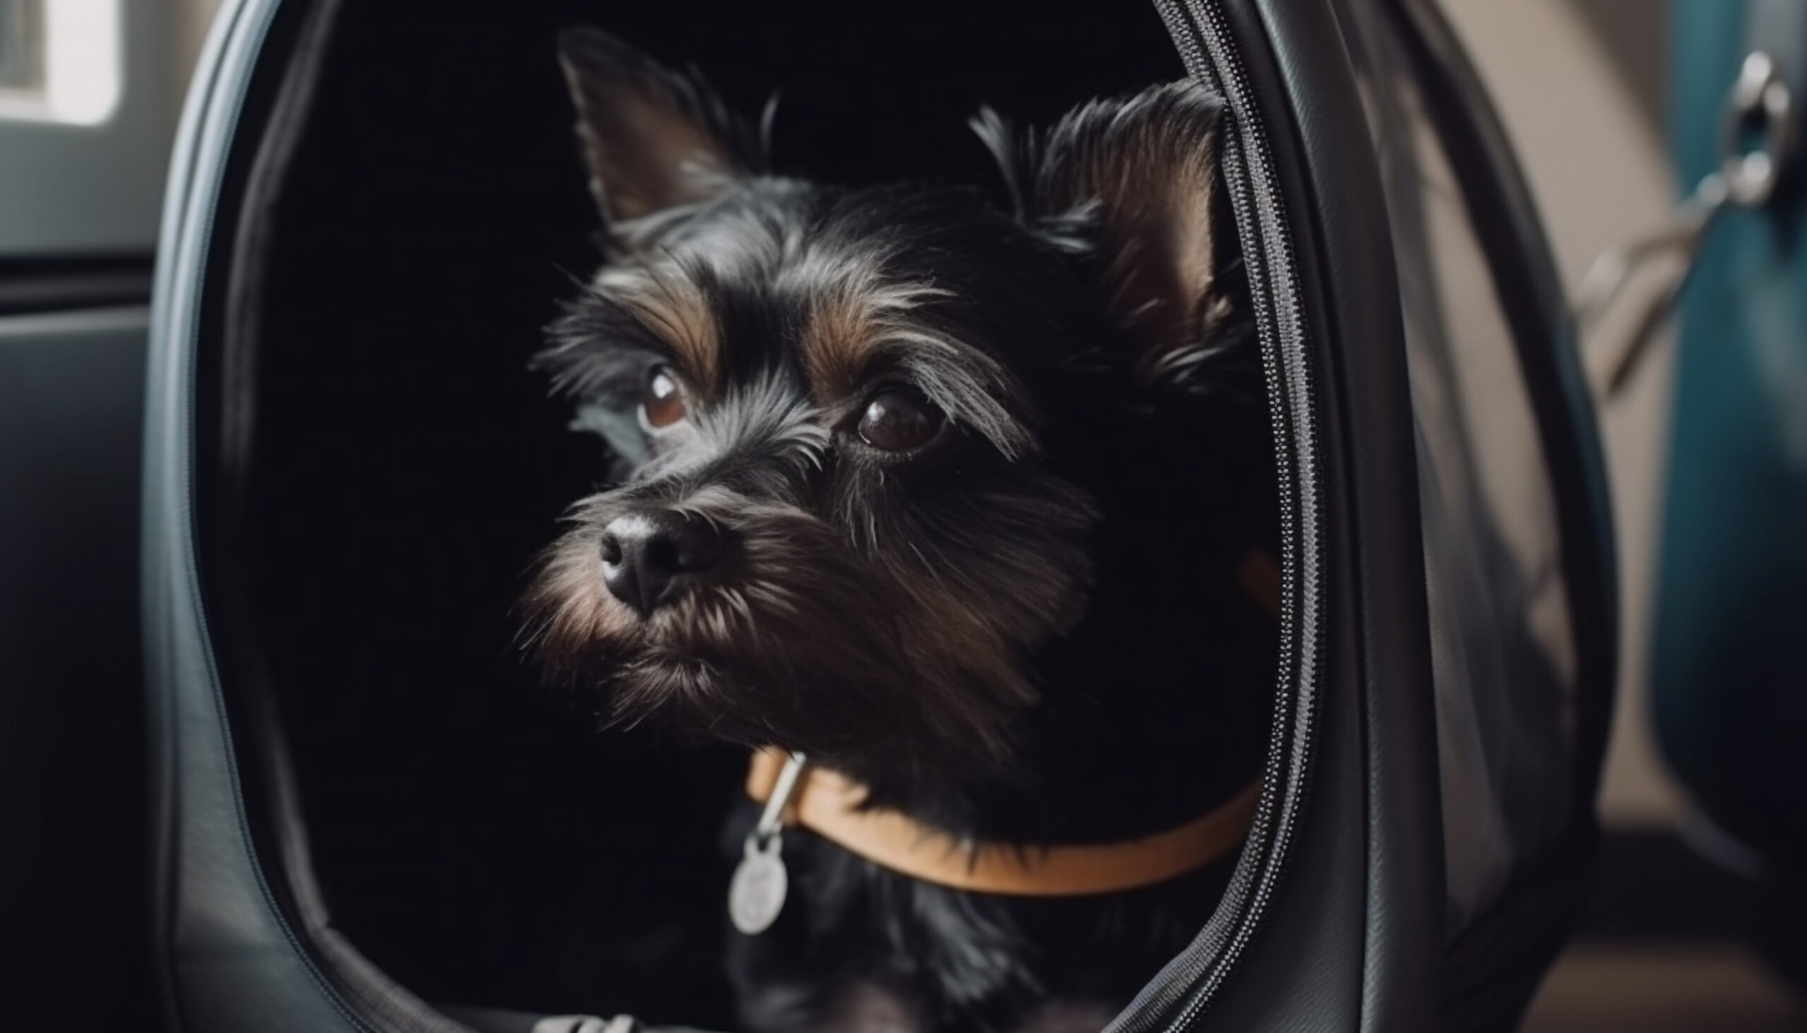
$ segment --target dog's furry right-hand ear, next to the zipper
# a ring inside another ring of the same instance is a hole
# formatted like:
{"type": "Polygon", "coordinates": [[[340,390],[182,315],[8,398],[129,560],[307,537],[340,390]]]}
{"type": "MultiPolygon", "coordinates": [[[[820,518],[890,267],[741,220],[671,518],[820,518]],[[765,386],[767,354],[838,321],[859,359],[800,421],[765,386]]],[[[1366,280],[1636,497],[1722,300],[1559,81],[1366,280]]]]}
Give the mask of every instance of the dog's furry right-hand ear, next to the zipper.
{"type": "MultiPolygon", "coordinates": [[[[1108,308],[1129,327],[1138,380],[1202,387],[1236,315],[1240,262],[1218,175],[1223,105],[1194,81],[1068,112],[1039,141],[1035,213],[1090,224],[1108,308]]],[[[1243,335],[1234,335],[1243,336],[1243,335]]]]}

